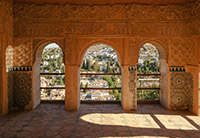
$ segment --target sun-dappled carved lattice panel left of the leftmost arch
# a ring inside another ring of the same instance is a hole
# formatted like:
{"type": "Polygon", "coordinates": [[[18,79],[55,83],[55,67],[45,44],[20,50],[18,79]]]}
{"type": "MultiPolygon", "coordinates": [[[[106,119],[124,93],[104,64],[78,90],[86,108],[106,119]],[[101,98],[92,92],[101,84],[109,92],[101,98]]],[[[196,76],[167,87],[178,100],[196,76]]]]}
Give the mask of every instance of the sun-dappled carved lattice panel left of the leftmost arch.
{"type": "Polygon", "coordinates": [[[14,65],[31,65],[32,64],[32,44],[30,40],[14,40],[14,65]]]}

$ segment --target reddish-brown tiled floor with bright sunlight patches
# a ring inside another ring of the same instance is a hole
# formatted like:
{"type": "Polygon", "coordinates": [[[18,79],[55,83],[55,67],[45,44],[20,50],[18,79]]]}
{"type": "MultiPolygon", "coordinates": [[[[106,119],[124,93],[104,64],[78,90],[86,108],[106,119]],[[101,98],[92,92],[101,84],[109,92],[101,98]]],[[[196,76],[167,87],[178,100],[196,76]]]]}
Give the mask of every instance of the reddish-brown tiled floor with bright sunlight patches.
{"type": "Polygon", "coordinates": [[[76,112],[64,105],[41,104],[31,111],[0,117],[0,138],[200,138],[200,117],[168,111],[160,105],[138,105],[123,111],[119,104],[81,104],[76,112]]]}

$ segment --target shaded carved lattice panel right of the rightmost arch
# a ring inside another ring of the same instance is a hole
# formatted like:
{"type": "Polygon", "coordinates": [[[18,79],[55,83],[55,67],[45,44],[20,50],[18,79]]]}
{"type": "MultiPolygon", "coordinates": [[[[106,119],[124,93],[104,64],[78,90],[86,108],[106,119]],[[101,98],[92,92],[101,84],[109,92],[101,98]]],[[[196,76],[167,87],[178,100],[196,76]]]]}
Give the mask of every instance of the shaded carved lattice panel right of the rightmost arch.
{"type": "Polygon", "coordinates": [[[170,65],[193,64],[195,59],[193,39],[171,39],[170,65]]]}

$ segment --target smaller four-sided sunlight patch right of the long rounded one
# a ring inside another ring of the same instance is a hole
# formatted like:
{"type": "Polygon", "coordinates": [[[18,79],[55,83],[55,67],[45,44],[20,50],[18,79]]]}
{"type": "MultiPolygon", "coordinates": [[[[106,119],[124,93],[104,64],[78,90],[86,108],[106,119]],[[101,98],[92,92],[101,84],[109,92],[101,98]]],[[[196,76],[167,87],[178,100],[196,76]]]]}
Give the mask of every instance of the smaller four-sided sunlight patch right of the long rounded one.
{"type": "Polygon", "coordinates": [[[180,115],[155,115],[167,129],[198,130],[180,115]]]}

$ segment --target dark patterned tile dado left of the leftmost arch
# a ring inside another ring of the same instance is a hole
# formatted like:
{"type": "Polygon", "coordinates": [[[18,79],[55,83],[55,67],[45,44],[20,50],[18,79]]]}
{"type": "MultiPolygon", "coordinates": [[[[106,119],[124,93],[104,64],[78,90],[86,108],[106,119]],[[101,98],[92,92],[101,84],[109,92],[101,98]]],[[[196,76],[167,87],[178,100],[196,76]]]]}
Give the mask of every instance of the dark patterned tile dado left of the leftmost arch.
{"type": "Polygon", "coordinates": [[[8,109],[25,109],[32,97],[32,67],[14,66],[8,70],[8,109]]]}

